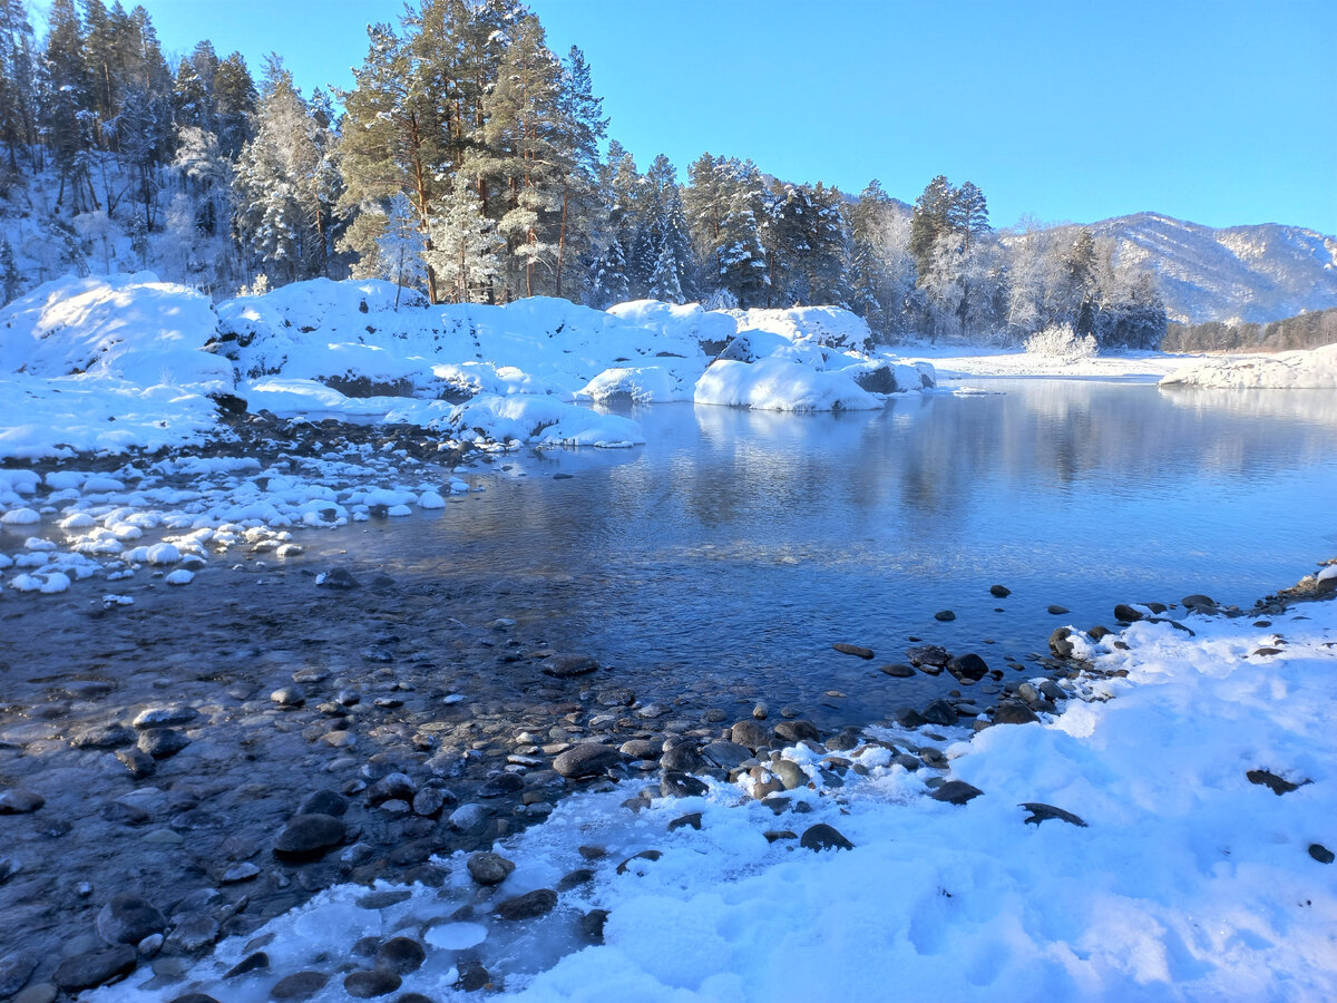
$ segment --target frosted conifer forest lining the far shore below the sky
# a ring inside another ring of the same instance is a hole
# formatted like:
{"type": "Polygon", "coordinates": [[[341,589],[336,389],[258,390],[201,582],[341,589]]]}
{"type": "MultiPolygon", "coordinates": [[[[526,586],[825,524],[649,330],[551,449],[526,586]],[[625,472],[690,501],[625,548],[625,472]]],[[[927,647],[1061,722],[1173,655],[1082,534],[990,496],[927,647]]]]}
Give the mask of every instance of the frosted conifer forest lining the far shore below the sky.
{"type": "MultiPolygon", "coordinates": [[[[219,296],[354,275],[433,302],[830,304],[889,340],[1165,333],[1146,269],[1086,230],[995,233],[969,182],[935,178],[909,209],[876,181],[849,197],[711,154],[685,181],[664,156],[642,171],[604,146],[582,51],[554,53],[517,0],[422,0],[369,29],[336,95],[303,95],[277,56],[257,82],[207,41],[172,67],[138,7],[52,0],[48,25],[37,43],[23,0],[0,0],[0,193],[55,189],[29,198],[60,254],[43,271],[152,263],[219,296]]],[[[20,269],[5,237],[7,296],[20,269]]]]}

